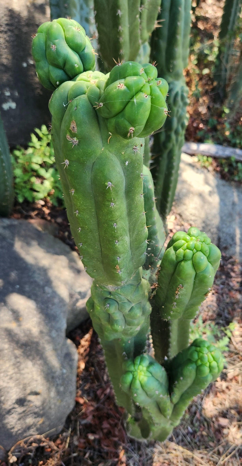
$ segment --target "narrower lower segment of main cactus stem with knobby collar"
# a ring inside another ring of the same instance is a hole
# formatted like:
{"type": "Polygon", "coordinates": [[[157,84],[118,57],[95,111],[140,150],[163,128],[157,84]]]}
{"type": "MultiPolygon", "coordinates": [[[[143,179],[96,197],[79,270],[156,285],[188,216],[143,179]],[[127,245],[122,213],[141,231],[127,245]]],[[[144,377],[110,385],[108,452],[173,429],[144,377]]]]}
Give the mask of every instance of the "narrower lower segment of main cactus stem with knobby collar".
{"type": "Polygon", "coordinates": [[[123,363],[145,349],[150,326],[149,284],[138,270],[123,287],[111,290],[93,282],[87,309],[101,339],[118,404],[133,412],[129,397],[120,387],[123,363]]]}

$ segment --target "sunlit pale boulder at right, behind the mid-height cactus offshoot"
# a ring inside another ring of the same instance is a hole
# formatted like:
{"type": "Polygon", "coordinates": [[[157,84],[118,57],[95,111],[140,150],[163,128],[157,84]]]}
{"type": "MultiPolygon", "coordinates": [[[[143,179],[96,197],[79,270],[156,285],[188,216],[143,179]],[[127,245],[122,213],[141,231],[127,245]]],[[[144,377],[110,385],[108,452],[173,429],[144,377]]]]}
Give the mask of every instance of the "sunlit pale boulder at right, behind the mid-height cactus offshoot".
{"type": "Polygon", "coordinates": [[[174,207],[222,252],[242,261],[242,186],[224,181],[182,154],[174,207]]]}

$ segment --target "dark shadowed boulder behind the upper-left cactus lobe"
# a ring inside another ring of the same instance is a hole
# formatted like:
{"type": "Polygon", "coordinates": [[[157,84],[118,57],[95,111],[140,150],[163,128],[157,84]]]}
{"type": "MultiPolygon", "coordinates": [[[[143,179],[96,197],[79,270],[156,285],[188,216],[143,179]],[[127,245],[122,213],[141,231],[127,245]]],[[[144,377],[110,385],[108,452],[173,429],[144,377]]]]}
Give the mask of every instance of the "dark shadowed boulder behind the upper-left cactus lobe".
{"type": "Polygon", "coordinates": [[[0,0],[0,112],[10,146],[27,144],[35,127],[50,122],[51,92],[39,82],[32,38],[49,21],[48,0],[0,0]]]}

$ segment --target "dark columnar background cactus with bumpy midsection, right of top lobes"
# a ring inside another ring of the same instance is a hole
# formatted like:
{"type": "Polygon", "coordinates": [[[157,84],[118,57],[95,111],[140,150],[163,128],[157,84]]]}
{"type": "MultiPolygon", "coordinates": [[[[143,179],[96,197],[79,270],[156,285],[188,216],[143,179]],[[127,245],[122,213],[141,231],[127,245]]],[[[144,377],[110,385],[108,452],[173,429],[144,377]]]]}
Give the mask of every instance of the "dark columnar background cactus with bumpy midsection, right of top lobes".
{"type": "Polygon", "coordinates": [[[169,84],[169,117],[153,137],[151,164],[157,206],[163,219],[172,207],[187,126],[188,89],[183,69],[189,53],[190,8],[191,0],[163,1],[158,16],[162,27],[154,30],[151,40],[151,59],[157,61],[158,74],[169,84]]]}

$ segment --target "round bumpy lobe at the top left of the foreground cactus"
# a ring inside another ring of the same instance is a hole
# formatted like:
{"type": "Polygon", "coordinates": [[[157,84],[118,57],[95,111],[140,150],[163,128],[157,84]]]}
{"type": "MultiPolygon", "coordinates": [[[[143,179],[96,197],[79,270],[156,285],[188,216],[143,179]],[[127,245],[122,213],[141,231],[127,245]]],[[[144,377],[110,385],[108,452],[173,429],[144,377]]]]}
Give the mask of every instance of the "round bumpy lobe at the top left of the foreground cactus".
{"type": "Polygon", "coordinates": [[[39,27],[33,39],[32,55],[41,84],[50,90],[95,68],[94,50],[83,27],[65,18],[39,27]]]}

